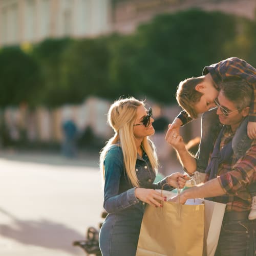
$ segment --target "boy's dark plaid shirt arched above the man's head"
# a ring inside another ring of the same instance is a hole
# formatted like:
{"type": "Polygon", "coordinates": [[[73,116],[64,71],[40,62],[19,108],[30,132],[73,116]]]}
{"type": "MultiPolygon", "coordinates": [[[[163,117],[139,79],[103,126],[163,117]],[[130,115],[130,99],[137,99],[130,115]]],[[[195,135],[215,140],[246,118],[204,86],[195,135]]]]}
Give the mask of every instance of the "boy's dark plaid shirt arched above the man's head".
{"type": "Polygon", "coordinates": [[[210,73],[216,86],[231,77],[246,80],[253,89],[253,99],[250,105],[249,121],[256,122],[256,69],[245,60],[232,57],[212,64],[203,69],[203,75],[210,73]]]}

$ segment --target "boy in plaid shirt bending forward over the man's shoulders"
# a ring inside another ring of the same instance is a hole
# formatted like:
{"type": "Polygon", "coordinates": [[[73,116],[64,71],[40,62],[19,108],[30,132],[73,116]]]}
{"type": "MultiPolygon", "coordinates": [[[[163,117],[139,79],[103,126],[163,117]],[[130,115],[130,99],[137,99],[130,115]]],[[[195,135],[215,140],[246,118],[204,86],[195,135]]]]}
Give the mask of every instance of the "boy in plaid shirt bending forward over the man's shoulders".
{"type": "MultiPolygon", "coordinates": [[[[184,111],[175,118],[169,130],[174,129],[179,133],[181,125],[186,124],[193,118],[197,118],[198,114],[214,107],[214,100],[221,89],[220,84],[230,78],[243,79],[252,88],[253,97],[250,102],[248,118],[240,125],[232,142],[233,151],[240,158],[250,146],[251,139],[256,139],[256,69],[245,60],[236,57],[227,58],[205,67],[203,69],[203,76],[181,81],[176,98],[184,111]]],[[[235,90],[237,89],[239,89],[239,83],[238,88],[235,90]]],[[[211,111],[211,113],[204,116],[202,127],[204,129],[197,153],[197,170],[200,173],[205,172],[208,164],[209,152],[212,149],[209,145],[214,140],[212,134],[215,134],[221,127],[216,111],[211,111]]],[[[256,189],[251,190],[251,196],[253,200],[249,219],[256,219],[256,189]]]]}

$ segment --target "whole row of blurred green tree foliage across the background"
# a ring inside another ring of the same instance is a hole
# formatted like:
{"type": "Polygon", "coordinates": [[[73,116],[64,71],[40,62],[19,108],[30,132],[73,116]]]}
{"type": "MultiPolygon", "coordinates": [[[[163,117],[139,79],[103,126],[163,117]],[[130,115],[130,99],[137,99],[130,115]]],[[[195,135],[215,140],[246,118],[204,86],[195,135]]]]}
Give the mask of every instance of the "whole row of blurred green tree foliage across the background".
{"type": "Polygon", "coordinates": [[[130,35],[47,39],[31,53],[4,48],[0,104],[57,106],[90,95],[172,103],[178,83],[204,66],[232,56],[256,66],[255,31],[255,20],[190,9],[158,15],[130,35]]]}

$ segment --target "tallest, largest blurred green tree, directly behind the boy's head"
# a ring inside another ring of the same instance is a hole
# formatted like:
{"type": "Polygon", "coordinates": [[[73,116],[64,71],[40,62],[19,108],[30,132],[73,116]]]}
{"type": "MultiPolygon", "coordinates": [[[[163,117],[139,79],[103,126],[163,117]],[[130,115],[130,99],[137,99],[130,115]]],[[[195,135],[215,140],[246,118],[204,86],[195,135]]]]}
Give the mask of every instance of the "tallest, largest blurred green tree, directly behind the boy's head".
{"type": "Polygon", "coordinates": [[[236,26],[234,16],[220,12],[159,15],[114,48],[112,82],[126,87],[126,94],[176,102],[179,81],[200,76],[204,66],[229,57],[224,46],[236,36],[236,26]]]}

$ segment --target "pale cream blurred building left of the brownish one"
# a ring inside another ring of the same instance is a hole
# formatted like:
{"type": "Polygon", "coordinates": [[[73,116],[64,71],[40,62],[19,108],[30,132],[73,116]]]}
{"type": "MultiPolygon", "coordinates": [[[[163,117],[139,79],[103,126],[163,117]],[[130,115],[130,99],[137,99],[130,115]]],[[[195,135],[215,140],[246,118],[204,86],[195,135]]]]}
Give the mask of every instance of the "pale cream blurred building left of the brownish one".
{"type": "Polygon", "coordinates": [[[110,0],[1,0],[0,46],[110,31],[110,0]]]}

